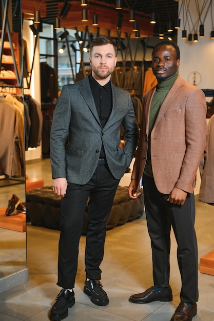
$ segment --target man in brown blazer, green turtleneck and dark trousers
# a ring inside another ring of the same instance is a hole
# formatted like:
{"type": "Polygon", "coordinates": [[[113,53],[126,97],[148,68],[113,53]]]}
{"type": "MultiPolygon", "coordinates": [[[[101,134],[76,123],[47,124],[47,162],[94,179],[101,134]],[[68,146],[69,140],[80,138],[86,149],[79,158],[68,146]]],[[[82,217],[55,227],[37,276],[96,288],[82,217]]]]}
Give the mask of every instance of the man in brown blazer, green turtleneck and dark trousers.
{"type": "Polygon", "coordinates": [[[178,244],[181,303],[171,321],[197,314],[198,249],[194,230],[194,186],[206,145],[206,99],[179,75],[180,50],[170,41],[152,52],[158,85],[143,97],[140,140],[128,188],[136,198],[143,185],[151,238],[154,285],[129,298],[132,303],[171,301],[169,254],[171,226],[178,244]]]}

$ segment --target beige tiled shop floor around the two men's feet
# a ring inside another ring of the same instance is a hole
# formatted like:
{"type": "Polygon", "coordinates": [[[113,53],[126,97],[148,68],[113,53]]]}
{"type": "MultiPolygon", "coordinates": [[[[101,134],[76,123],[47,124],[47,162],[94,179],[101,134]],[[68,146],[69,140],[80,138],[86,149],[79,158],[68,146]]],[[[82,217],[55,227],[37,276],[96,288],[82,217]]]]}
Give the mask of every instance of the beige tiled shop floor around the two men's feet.
{"type": "MultiPolygon", "coordinates": [[[[27,175],[51,185],[49,159],[27,165],[27,175]]],[[[214,248],[214,208],[196,202],[196,231],[200,257],[214,248]]],[[[4,321],[46,321],[59,292],[57,280],[57,246],[59,231],[27,224],[29,281],[0,294],[0,319],[4,321]]],[[[76,276],[74,307],[66,320],[75,321],[169,321],[176,309],[181,287],[176,258],[176,241],[172,233],[170,285],[173,301],[132,304],[128,298],[152,285],[151,249],[145,218],[107,231],[102,263],[102,283],[109,305],[98,307],[83,293],[85,236],[81,237],[79,268],[76,276]]],[[[198,314],[194,321],[214,320],[214,276],[199,273],[198,314]]]]}

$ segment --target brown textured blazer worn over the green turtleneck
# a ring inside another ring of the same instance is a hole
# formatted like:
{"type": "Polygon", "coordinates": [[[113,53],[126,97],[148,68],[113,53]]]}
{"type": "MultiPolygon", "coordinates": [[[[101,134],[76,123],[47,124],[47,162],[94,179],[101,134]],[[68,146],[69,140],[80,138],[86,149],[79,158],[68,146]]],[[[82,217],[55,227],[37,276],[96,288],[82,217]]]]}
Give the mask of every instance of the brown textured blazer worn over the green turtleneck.
{"type": "MultiPolygon", "coordinates": [[[[149,112],[156,87],[143,97],[140,139],[132,177],[140,182],[146,164],[149,112]]],[[[206,145],[206,99],[201,89],[179,76],[169,90],[151,131],[151,165],[163,194],[176,186],[192,193],[206,145]]]]}

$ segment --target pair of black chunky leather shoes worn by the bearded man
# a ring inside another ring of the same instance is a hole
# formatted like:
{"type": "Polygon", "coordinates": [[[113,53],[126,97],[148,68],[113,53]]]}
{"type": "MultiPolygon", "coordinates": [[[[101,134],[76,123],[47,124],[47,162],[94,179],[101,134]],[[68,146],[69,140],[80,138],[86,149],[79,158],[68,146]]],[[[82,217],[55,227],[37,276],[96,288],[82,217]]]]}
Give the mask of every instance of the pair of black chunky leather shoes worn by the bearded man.
{"type": "MultiPolygon", "coordinates": [[[[109,303],[107,293],[102,289],[99,280],[90,279],[85,281],[84,293],[91,297],[91,302],[98,306],[106,306],[109,303]]],[[[68,308],[75,303],[74,292],[62,289],[56,297],[56,302],[51,308],[50,319],[60,321],[68,316],[68,308]]]]}

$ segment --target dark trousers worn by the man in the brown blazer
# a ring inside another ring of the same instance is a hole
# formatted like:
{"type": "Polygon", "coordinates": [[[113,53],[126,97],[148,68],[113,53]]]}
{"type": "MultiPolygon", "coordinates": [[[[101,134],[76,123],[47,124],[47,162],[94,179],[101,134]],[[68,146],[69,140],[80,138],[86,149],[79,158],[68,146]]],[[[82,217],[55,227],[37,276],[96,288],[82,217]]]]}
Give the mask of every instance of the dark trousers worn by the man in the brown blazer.
{"type": "Polygon", "coordinates": [[[143,175],[146,219],[151,238],[154,286],[169,285],[169,254],[171,226],[177,240],[177,258],[181,273],[181,301],[198,301],[198,248],[194,230],[194,194],[187,194],[184,205],[167,201],[155,186],[153,177],[143,175]]]}

